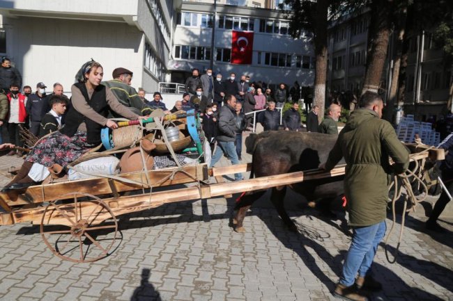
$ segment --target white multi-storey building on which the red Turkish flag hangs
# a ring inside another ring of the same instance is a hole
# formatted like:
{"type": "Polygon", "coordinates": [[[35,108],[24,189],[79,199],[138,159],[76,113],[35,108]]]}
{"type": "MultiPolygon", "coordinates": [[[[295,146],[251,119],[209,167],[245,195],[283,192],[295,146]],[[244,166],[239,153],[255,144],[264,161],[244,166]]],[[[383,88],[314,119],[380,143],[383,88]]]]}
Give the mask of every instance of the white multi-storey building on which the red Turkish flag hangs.
{"type": "Polygon", "coordinates": [[[271,85],[292,85],[297,80],[301,86],[312,86],[315,60],[311,37],[295,40],[288,29],[289,19],[279,10],[222,4],[215,9],[208,3],[183,2],[168,63],[171,81],[183,83],[193,68],[203,73],[213,59],[213,71],[224,78],[236,72],[271,85]],[[251,64],[231,63],[233,31],[253,33],[251,64]]]}

